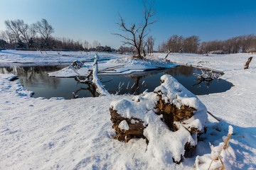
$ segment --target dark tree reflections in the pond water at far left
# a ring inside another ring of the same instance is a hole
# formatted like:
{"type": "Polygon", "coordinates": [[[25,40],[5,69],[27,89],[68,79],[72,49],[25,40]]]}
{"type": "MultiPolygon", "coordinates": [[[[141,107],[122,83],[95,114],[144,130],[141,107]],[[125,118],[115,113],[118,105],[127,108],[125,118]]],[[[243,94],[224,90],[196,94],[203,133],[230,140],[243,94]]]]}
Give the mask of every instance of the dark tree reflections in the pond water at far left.
{"type": "Polygon", "coordinates": [[[55,72],[62,69],[58,66],[36,66],[36,67],[1,67],[0,73],[12,73],[18,75],[21,84],[35,84],[43,82],[55,89],[60,83],[60,79],[48,77],[48,72],[55,72]]]}

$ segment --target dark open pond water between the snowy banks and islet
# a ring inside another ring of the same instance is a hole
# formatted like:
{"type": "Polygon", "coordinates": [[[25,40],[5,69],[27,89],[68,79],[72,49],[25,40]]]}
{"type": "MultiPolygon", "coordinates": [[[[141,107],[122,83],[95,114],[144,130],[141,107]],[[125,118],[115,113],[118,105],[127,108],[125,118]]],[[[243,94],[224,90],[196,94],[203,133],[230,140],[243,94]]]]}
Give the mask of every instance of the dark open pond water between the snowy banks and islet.
{"type": "MultiPolygon", "coordinates": [[[[74,92],[79,97],[98,96],[91,84],[80,84],[74,78],[48,77],[48,72],[54,72],[66,67],[58,66],[26,66],[26,67],[0,67],[0,73],[13,73],[18,75],[18,82],[26,89],[35,92],[33,97],[64,97],[73,98],[74,92]]],[[[210,84],[198,84],[193,73],[201,73],[195,67],[180,66],[161,72],[144,72],[128,75],[105,75],[100,79],[105,88],[112,94],[141,94],[143,91],[154,91],[160,85],[160,77],[171,74],[183,86],[196,95],[213,94],[227,91],[233,85],[228,81],[213,80],[210,84]]]]}

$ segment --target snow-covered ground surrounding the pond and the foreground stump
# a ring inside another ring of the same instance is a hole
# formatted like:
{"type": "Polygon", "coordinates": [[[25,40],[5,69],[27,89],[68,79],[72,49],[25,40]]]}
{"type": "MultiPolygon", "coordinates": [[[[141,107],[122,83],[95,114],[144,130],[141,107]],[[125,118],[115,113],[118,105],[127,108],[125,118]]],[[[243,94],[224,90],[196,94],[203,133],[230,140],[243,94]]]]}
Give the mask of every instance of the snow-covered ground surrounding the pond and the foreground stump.
{"type": "MultiPolygon", "coordinates": [[[[0,62],[73,62],[81,60],[81,56],[89,57],[86,52],[47,53],[6,50],[0,52],[0,62]]],[[[218,146],[228,134],[228,125],[232,125],[233,154],[228,155],[231,169],[256,169],[255,58],[248,54],[168,57],[172,62],[218,69],[225,73],[222,79],[235,85],[220,94],[198,96],[221,121],[217,123],[208,115],[208,131],[201,136],[196,155],[210,154],[208,142],[218,146]],[[249,69],[244,70],[250,56],[254,58],[249,69]]],[[[110,103],[131,100],[132,96],[31,98],[31,92],[21,84],[9,81],[13,76],[0,74],[0,169],[193,169],[196,155],[181,164],[159,164],[154,162],[154,154],[145,154],[144,140],[125,144],[112,139],[110,103]]]]}

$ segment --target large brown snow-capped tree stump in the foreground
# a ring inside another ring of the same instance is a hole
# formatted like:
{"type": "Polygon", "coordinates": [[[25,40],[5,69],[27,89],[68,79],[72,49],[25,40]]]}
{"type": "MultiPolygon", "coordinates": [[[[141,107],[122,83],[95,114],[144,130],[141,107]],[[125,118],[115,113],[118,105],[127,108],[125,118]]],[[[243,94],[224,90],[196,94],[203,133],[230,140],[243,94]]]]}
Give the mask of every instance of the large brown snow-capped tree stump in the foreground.
{"type": "Polygon", "coordinates": [[[181,162],[206,132],[206,106],[170,75],[161,77],[154,92],[112,102],[110,114],[115,139],[146,139],[146,153],[162,163],[181,162]]]}

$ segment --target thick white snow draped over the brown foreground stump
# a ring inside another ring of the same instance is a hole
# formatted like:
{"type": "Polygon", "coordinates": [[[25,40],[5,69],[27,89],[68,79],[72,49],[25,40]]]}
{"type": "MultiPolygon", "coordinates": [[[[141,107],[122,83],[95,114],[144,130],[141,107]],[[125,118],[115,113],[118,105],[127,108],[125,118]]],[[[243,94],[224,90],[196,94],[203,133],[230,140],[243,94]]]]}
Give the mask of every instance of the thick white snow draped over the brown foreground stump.
{"type": "MultiPolygon", "coordinates": [[[[134,96],[132,101],[126,99],[114,101],[110,104],[110,109],[117,111],[123,118],[129,118],[129,120],[139,118],[144,122],[146,127],[144,136],[149,140],[146,154],[154,157],[159,164],[171,164],[173,159],[174,162],[181,161],[181,156],[185,154],[185,145],[196,146],[198,133],[204,132],[206,128],[207,110],[203,103],[174,77],[164,75],[161,77],[161,82],[161,86],[156,87],[154,92],[134,96]],[[169,105],[174,104],[177,108],[186,105],[189,108],[195,108],[195,111],[191,118],[184,117],[181,121],[174,121],[177,130],[170,130],[170,127],[165,124],[167,120],[165,117],[163,119],[160,108],[156,106],[159,100],[166,101],[169,105]],[[195,129],[196,131],[192,132],[195,129]]],[[[119,123],[122,129],[124,121],[121,122],[122,125],[119,123]]]]}

